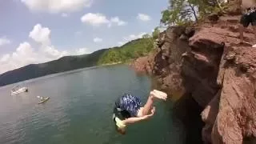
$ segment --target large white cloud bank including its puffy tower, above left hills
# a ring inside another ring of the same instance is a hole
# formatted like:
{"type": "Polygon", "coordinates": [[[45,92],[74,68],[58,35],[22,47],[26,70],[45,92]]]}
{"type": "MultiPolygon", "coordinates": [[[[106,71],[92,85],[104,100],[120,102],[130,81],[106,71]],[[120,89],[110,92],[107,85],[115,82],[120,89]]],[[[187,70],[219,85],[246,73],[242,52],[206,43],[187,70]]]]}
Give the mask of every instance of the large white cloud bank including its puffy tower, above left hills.
{"type": "Polygon", "coordinates": [[[14,52],[3,54],[0,57],[0,74],[29,64],[52,61],[66,55],[88,53],[86,48],[58,50],[50,44],[50,29],[42,27],[41,24],[34,26],[29,35],[35,42],[38,42],[38,47],[34,49],[29,42],[22,42],[14,52]]]}

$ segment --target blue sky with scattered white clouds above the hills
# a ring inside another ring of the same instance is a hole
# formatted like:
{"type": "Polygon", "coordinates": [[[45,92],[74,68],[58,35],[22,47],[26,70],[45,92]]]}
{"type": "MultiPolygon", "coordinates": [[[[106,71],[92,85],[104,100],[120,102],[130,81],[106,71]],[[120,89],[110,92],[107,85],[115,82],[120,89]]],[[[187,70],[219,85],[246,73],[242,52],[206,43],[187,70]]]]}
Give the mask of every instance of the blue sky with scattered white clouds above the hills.
{"type": "Polygon", "coordinates": [[[122,46],[159,26],[167,0],[0,0],[0,74],[122,46]]]}

